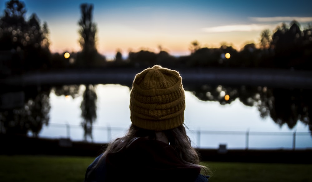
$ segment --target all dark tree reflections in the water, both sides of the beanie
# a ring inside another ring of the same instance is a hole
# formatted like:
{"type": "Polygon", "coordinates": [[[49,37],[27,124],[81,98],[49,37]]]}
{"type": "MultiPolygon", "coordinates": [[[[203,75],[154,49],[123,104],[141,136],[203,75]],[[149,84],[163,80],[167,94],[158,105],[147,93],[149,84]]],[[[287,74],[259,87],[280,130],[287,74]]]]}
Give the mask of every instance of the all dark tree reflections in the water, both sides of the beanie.
{"type": "MultiPolygon", "coordinates": [[[[92,141],[92,125],[97,117],[96,85],[53,85],[27,86],[21,88],[25,94],[25,102],[20,108],[6,108],[0,112],[1,133],[26,135],[31,132],[37,137],[43,125],[49,123],[50,100],[53,91],[57,96],[71,96],[73,99],[82,96],[81,127],[84,139],[92,141]]],[[[231,104],[238,99],[249,107],[256,107],[262,118],[271,117],[280,127],[286,124],[290,129],[297,122],[309,126],[311,97],[310,89],[281,89],[252,86],[227,85],[192,85],[184,84],[185,90],[192,92],[202,101],[214,101],[221,105],[231,104]]],[[[129,87],[129,86],[128,86],[129,87]]]]}

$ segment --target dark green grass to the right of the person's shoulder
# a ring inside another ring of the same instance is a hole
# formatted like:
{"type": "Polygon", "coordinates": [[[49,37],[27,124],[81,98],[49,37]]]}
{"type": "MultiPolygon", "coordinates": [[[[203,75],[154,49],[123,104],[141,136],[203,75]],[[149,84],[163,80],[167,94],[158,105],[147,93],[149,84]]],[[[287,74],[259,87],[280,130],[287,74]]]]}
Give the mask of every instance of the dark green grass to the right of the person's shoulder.
{"type": "Polygon", "coordinates": [[[213,171],[209,182],[311,182],[312,164],[265,164],[265,163],[229,163],[207,162],[213,171]]]}

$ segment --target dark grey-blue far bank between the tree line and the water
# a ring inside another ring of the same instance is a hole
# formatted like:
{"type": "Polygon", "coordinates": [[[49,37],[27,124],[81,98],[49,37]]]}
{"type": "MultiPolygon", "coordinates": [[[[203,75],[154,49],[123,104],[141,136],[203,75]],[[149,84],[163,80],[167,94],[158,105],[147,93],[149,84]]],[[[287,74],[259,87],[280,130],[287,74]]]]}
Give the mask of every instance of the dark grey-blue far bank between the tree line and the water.
{"type": "MultiPolygon", "coordinates": [[[[124,84],[131,86],[139,68],[63,69],[0,79],[5,85],[124,84]]],[[[183,84],[225,84],[312,89],[312,73],[290,69],[177,68],[183,84]]]]}

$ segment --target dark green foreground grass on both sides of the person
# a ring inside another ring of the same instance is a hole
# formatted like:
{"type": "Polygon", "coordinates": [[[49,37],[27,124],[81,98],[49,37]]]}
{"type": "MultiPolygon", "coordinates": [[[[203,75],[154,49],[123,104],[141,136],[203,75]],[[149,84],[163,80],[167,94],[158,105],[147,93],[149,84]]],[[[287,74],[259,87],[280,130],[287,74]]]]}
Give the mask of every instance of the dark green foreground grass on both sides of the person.
{"type": "MultiPolygon", "coordinates": [[[[85,170],[93,160],[94,157],[0,155],[0,181],[83,182],[85,170]]],[[[204,164],[213,171],[209,182],[312,182],[312,164],[204,164]]]]}

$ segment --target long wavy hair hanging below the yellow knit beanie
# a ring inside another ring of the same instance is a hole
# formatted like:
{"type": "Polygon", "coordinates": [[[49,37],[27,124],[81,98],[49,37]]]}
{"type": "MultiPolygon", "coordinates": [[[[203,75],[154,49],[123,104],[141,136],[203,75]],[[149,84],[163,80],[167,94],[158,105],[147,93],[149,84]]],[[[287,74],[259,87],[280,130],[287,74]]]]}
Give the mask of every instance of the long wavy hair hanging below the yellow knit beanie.
{"type": "MultiPolygon", "coordinates": [[[[200,165],[199,155],[197,151],[191,146],[191,139],[186,134],[184,125],[169,130],[164,130],[163,132],[168,138],[169,145],[173,147],[173,149],[178,154],[179,159],[184,164],[200,167],[204,175],[206,175],[207,172],[210,172],[208,167],[200,165]]],[[[114,141],[108,144],[105,152],[97,164],[100,164],[100,161],[103,160],[108,153],[116,153],[129,146],[136,137],[148,137],[149,139],[156,139],[156,134],[153,130],[146,130],[131,124],[126,135],[116,138],[114,141]]],[[[95,165],[95,168],[96,167],[97,165],[95,165]]]]}

